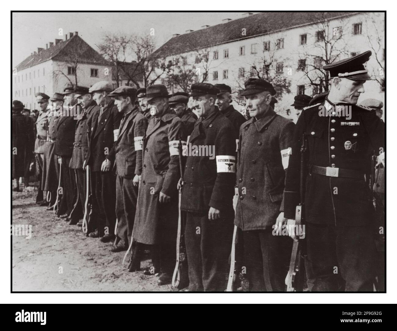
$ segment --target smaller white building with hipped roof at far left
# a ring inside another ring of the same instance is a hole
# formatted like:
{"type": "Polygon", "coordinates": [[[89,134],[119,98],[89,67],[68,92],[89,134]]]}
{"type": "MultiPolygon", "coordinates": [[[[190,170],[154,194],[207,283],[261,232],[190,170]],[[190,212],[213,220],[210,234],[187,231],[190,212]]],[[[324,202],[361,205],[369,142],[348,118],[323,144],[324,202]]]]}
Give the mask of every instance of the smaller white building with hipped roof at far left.
{"type": "Polygon", "coordinates": [[[112,67],[77,32],[38,48],[13,69],[12,93],[28,109],[36,109],[36,92],[51,96],[67,85],[91,87],[112,81],[112,67]]]}

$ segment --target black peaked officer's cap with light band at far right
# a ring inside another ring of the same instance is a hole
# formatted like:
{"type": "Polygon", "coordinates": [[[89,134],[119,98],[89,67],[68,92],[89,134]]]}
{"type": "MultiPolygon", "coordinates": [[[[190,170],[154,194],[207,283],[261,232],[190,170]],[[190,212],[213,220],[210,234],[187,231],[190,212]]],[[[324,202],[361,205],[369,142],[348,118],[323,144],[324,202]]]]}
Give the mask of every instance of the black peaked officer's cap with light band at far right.
{"type": "Polygon", "coordinates": [[[368,81],[371,77],[364,67],[372,55],[370,50],[338,62],[324,65],[324,70],[330,71],[330,77],[343,77],[353,81],[368,81]]]}

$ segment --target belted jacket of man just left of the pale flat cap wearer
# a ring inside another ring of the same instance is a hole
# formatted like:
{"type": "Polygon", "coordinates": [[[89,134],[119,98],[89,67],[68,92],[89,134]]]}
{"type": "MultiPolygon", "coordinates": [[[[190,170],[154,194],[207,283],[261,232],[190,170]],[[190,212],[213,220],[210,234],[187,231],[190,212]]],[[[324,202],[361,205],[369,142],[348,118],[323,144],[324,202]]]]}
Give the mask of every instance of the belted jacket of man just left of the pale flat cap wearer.
{"type": "Polygon", "coordinates": [[[77,119],[72,158],[69,164],[71,169],[83,169],[85,156],[88,152],[88,119],[99,110],[99,106],[93,100],[77,119]]]}

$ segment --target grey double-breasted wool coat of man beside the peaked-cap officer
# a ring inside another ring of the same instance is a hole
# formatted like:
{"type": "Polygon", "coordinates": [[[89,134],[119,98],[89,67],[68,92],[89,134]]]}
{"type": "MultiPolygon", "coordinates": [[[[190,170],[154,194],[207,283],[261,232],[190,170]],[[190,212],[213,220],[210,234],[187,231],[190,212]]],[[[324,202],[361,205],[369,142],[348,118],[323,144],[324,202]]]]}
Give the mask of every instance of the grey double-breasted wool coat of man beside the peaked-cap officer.
{"type": "Polygon", "coordinates": [[[294,126],[272,108],[241,125],[235,225],[243,231],[265,230],[276,222],[294,126]]]}

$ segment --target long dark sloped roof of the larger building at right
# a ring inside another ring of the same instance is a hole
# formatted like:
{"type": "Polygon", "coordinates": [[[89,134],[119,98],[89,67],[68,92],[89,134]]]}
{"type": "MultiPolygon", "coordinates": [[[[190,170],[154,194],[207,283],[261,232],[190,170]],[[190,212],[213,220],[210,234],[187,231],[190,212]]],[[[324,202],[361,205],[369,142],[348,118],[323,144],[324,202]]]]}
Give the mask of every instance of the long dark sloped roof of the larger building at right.
{"type": "Polygon", "coordinates": [[[290,29],[299,25],[312,24],[324,17],[327,19],[353,15],[354,12],[264,12],[247,17],[234,19],[173,37],[160,46],[153,58],[162,58],[181,54],[195,49],[224,44],[234,40],[245,39],[257,35],[266,35],[279,30],[290,29]],[[246,35],[242,35],[245,29],[246,35]]]}

